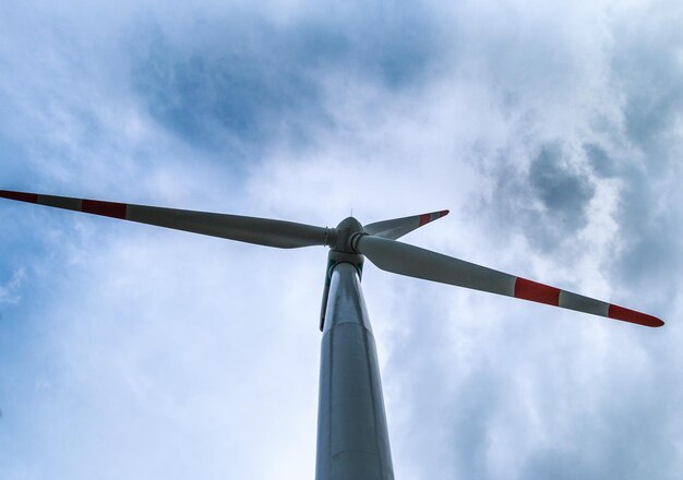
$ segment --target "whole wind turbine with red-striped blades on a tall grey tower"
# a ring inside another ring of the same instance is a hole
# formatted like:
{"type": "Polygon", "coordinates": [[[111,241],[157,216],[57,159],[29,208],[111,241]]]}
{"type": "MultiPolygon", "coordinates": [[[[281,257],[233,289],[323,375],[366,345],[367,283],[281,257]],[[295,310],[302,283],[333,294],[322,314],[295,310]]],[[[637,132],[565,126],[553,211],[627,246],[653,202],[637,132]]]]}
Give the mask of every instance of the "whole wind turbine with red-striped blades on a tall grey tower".
{"type": "Polygon", "coordinates": [[[638,325],[655,316],[396,241],[448,211],[336,228],[0,190],[0,197],[280,249],[329,248],[320,316],[316,480],[393,479],[376,348],[360,280],[364,257],[381,269],[505,295],[638,325]]]}

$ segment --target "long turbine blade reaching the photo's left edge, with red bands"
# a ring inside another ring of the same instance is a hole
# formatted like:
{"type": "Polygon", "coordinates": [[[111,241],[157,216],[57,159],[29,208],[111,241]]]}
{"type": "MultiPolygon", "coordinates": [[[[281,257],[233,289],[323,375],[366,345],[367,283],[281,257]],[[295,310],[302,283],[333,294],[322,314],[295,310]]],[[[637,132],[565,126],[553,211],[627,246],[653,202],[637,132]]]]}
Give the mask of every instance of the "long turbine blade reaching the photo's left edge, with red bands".
{"type": "Polygon", "coordinates": [[[325,245],[327,236],[331,235],[329,229],[312,225],[239,215],[40,195],[8,190],[0,190],[0,197],[280,249],[325,245]]]}

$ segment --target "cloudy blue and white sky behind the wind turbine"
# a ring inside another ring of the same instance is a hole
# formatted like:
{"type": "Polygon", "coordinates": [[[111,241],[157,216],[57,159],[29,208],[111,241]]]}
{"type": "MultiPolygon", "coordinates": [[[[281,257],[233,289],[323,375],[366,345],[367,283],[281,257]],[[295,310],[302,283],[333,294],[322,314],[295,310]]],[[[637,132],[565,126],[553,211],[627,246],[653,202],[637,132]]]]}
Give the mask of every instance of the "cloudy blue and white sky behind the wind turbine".
{"type": "MultiPolygon", "coordinates": [[[[683,3],[0,3],[0,189],[335,226],[659,316],[366,263],[397,479],[683,470],[683,3]]],[[[326,250],[0,202],[0,478],[313,478],[326,250]]]]}

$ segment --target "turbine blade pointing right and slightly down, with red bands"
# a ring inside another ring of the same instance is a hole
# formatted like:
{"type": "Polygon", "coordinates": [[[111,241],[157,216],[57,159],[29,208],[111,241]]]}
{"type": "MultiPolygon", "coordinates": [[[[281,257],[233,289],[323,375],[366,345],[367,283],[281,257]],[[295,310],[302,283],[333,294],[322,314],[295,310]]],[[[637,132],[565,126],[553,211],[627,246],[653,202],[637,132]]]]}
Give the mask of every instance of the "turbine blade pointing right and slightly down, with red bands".
{"type": "Polygon", "coordinates": [[[378,267],[395,274],[505,295],[592,313],[645,326],[661,326],[656,316],[527,280],[407,243],[363,235],[356,249],[378,267]]]}

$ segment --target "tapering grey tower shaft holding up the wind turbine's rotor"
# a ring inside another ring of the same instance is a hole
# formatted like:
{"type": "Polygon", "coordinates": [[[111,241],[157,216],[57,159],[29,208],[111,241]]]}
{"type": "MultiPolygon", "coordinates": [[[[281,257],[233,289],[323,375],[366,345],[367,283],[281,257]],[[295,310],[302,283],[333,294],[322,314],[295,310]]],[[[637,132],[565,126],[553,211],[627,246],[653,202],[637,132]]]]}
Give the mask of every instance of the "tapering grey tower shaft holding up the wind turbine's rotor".
{"type": "Polygon", "coordinates": [[[332,271],[317,405],[316,480],[393,480],[378,355],[350,263],[332,271]]]}

